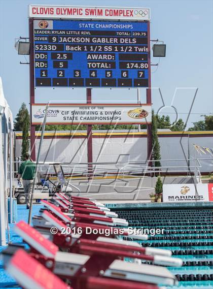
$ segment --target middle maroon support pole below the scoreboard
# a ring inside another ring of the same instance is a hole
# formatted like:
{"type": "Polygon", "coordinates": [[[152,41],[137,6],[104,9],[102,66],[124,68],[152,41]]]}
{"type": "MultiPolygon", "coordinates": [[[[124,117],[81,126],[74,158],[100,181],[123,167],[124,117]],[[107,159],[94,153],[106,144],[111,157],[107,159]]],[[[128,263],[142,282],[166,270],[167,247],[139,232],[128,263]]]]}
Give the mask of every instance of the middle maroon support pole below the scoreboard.
{"type": "MultiPolygon", "coordinates": [[[[86,88],[87,104],[92,103],[92,89],[86,88]]],[[[87,163],[92,163],[92,124],[87,125],[87,163]]],[[[92,165],[88,165],[88,173],[92,173],[92,165]]],[[[90,176],[90,174],[89,174],[90,176]]]]}

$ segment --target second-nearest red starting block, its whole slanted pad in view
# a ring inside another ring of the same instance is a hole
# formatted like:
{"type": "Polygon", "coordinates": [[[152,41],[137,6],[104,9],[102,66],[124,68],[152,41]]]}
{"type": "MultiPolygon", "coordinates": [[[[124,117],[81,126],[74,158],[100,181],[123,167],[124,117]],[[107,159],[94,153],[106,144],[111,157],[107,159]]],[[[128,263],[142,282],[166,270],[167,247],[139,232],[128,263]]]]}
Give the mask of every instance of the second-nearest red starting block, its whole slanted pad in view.
{"type": "Polygon", "coordinates": [[[60,277],[66,277],[72,280],[75,280],[77,276],[78,278],[83,278],[85,274],[82,273],[85,272],[87,272],[87,276],[98,276],[100,272],[103,272],[101,274],[102,276],[111,278],[121,278],[121,276],[123,276],[121,279],[125,280],[172,284],[174,283],[175,278],[166,268],[154,266],[156,267],[156,273],[158,274],[156,280],[152,281],[151,276],[149,275],[152,274],[153,277],[153,274],[156,274],[152,271],[148,274],[149,269],[151,270],[151,267],[153,268],[152,265],[132,264],[121,260],[119,262],[117,258],[128,257],[137,260],[151,261],[154,264],[165,266],[182,265],[180,264],[180,259],[145,255],[143,253],[146,253],[146,248],[134,245],[123,245],[121,244],[122,241],[119,243],[119,240],[115,240],[113,243],[113,239],[111,239],[110,242],[101,239],[98,241],[82,239],[71,247],[71,251],[75,253],[60,252],[57,246],[45,239],[39,232],[23,221],[19,222],[14,230],[33,248],[33,250],[37,251],[34,253],[32,250],[31,255],[34,256],[34,258],[37,258],[46,266],[48,264],[48,267],[60,277]],[[50,250],[47,250],[47,247],[50,247],[50,250]],[[78,254],[76,254],[76,252],[78,252],[78,254]],[[38,253],[42,255],[39,255],[38,253]],[[49,256],[50,258],[48,259],[49,256]],[[97,256],[99,260],[98,263],[97,256]],[[118,273],[121,271],[121,268],[123,268],[123,275],[118,273]],[[132,275],[129,274],[127,276],[127,272],[132,272],[132,275]],[[145,272],[146,276],[144,276],[145,272]],[[167,275],[167,279],[164,278],[165,274],[167,275]],[[173,277],[173,281],[171,280],[171,276],[173,277]]]}

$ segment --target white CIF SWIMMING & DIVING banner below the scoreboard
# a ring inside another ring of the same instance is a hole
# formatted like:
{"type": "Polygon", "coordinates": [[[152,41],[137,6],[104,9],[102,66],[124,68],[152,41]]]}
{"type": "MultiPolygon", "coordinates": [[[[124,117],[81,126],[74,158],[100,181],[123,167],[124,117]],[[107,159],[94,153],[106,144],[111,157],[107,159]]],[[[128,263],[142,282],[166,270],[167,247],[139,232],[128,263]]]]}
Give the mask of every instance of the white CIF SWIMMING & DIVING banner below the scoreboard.
{"type": "Polygon", "coordinates": [[[31,106],[32,124],[41,124],[47,110],[47,124],[117,124],[151,123],[151,105],[106,105],[106,104],[33,104],[31,106]]]}

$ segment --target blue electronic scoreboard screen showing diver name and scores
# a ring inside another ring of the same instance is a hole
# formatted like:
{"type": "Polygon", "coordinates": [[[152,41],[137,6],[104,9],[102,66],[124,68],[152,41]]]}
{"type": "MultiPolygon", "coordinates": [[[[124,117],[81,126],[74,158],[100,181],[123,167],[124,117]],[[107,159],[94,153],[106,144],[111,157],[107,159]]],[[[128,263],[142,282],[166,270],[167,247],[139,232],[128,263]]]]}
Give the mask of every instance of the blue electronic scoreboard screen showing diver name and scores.
{"type": "Polygon", "coordinates": [[[35,86],[148,87],[148,23],[34,20],[35,86]]]}

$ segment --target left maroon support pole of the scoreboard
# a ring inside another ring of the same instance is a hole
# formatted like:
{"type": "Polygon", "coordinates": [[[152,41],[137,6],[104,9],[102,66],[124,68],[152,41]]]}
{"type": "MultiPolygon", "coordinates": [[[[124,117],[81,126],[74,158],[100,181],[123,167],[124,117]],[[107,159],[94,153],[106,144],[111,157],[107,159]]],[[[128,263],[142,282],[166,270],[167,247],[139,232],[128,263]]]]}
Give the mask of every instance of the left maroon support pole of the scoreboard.
{"type": "Polygon", "coordinates": [[[29,54],[29,105],[30,105],[30,151],[31,159],[35,161],[35,125],[32,125],[31,118],[31,105],[35,103],[35,91],[34,91],[34,55],[33,55],[33,19],[29,18],[29,42],[30,42],[30,54],[29,54]]]}

